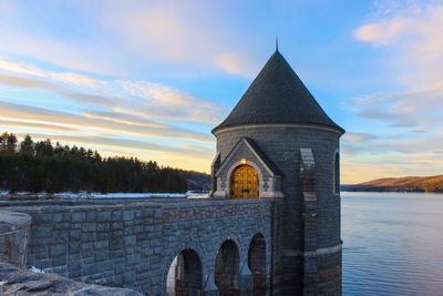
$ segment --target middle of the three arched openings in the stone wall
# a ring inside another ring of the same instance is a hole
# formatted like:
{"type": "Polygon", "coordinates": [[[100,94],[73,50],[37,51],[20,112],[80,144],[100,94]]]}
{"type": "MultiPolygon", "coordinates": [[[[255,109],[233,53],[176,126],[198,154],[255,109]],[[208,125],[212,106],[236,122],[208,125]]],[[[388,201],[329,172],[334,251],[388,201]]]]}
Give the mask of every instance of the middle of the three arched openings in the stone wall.
{"type": "Polygon", "coordinates": [[[223,243],[215,261],[215,284],[220,295],[238,295],[239,254],[229,239],[223,243]]]}

